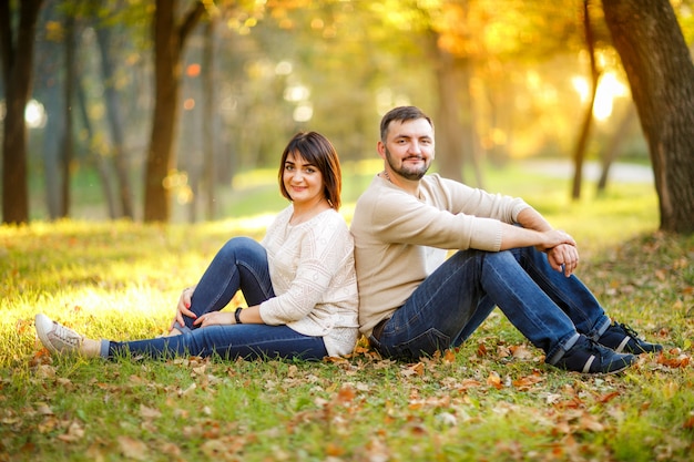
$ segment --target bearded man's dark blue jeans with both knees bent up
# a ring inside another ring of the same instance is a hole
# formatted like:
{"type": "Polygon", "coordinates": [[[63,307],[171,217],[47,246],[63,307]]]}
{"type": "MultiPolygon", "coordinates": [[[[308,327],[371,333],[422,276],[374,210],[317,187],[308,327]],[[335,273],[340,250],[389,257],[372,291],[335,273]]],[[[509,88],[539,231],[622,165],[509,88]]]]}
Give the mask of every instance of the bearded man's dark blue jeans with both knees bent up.
{"type": "Polygon", "coordinates": [[[591,291],[565,277],[534,247],[460,250],[412,292],[369,341],[385,357],[414,360],[461,345],[494,306],[555,363],[583,333],[610,326],[591,291]]]}

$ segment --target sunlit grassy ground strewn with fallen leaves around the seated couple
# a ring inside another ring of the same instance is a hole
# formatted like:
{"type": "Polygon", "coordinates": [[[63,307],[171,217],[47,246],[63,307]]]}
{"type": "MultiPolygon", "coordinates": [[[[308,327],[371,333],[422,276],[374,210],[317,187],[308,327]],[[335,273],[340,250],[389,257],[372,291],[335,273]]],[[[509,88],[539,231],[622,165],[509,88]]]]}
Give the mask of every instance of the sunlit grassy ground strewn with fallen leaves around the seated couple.
{"type": "Polygon", "coordinates": [[[160,335],[217,248],[259,237],[265,218],[0,227],[0,461],[691,460],[694,237],[654,232],[647,185],[570,203],[561,182],[512,171],[488,188],[576,237],[580,277],[666,352],[620,376],[567,373],[494,311],[459,350],[417,363],[364,345],[318,363],[54,359],[35,312],[91,337],[160,335]]]}

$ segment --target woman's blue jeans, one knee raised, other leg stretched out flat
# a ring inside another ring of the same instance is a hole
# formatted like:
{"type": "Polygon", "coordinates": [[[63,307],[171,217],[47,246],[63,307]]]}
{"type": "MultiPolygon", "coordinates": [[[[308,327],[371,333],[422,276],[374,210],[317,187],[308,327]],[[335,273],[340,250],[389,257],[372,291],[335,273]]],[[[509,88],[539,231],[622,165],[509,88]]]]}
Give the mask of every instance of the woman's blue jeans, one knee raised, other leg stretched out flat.
{"type": "MultiPolygon", "coordinates": [[[[269,278],[265,248],[248,237],[229,239],[214,257],[200,279],[191,311],[198,317],[226,307],[241,290],[248,306],[259,305],[275,296],[269,278]]],[[[320,360],[327,350],[322,337],[302,335],[287,326],[228,325],[198,328],[193,318],[185,326],[176,325],[183,333],[134,341],[102,341],[101,356],[113,358],[124,352],[151,358],[180,355],[223,358],[299,358],[320,360]]]]}

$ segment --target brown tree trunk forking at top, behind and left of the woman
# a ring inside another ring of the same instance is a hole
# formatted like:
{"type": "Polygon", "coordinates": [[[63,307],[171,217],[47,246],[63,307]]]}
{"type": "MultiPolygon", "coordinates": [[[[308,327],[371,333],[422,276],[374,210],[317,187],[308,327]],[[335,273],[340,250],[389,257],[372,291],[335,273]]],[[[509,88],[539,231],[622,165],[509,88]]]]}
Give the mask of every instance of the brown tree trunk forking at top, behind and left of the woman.
{"type": "Polygon", "coordinates": [[[173,168],[174,126],[178,116],[181,55],[185,39],[205,11],[196,3],[176,27],[177,1],[156,0],[154,13],[155,102],[150,150],[144,184],[144,220],[167,222],[171,216],[171,194],[165,185],[173,168]]]}

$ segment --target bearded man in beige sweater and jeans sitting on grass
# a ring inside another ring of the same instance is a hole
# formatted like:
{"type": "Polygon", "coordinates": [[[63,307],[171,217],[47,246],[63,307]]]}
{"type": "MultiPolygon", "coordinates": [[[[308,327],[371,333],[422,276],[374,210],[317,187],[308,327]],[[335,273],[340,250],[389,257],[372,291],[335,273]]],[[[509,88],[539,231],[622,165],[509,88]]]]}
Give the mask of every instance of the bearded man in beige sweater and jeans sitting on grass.
{"type": "Polygon", "coordinates": [[[377,351],[414,360],[456,347],[494,306],[561,369],[618,372],[662,349],[611,322],[572,275],[576,243],[522,199],[425,175],[433,146],[423,112],[388,112],[384,171],[355,209],[359,325],[377,351]]]}

